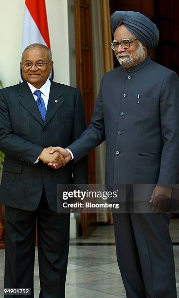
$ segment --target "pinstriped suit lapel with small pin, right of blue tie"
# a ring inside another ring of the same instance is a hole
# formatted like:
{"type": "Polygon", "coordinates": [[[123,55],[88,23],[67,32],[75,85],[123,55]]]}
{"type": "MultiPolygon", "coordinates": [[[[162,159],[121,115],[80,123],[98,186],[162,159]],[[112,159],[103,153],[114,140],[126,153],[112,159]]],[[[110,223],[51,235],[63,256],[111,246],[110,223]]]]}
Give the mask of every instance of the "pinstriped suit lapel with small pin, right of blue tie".
{"type": "Polygon", "coordinates": [[[53,118],[54,114],[61,107],[64,101],[64,95],[58,85],[51,81],[51,89],[49,94],[49,102],[45,117],[44,126],[53,118]]]}

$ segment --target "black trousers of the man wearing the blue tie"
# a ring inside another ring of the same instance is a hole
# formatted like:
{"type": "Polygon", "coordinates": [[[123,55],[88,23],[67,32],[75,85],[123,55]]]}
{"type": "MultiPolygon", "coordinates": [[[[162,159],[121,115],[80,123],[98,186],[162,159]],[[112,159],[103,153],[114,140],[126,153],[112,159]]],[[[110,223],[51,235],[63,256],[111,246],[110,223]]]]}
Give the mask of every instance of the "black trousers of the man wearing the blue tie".
{"type": "Polygon", "coordinates": [[[34,298],[36,222],[39,298],[65,298],[70,214],[52,211],[44,191],[35,211],[6,206],[5,287],[31,288],[21,297],[34,298]]]}

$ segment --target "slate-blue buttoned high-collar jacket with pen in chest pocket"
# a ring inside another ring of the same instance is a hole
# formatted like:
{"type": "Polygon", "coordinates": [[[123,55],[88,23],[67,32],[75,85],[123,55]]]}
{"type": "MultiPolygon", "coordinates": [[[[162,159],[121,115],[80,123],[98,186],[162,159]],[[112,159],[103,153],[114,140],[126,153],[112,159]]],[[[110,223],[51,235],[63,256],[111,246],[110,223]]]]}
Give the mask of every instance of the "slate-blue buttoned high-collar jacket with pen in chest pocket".
{"type": "Polygon", "coordinates": [[[177,74],[149,56],[131,69],[118,67],[105,74],[90,126],[68,148],[77,162],[105,139],[107,184],[175,184],[177,74]]]}

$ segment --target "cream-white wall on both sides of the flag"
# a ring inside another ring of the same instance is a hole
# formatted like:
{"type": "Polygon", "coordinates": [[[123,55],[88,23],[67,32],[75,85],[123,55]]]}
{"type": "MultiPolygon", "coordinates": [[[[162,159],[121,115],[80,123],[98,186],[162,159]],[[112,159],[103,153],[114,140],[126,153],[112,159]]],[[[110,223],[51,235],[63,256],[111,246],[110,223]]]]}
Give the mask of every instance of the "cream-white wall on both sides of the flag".
{"type": "MultiPolygon", "coordinates": [[[[55,81],[70,85],[67,0],[45,0],[55,81]]],[[[25,0],[0,0],[0,80],[19,82],[25,0]]]]}

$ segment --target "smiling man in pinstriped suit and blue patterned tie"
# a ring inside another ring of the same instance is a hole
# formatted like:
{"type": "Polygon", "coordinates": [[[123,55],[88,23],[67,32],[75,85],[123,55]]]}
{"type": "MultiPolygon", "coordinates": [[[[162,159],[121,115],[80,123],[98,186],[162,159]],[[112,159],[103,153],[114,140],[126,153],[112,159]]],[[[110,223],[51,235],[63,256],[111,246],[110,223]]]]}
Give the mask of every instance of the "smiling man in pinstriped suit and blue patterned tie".
{"type": "Polygon", "coordinates": [[[56,189],[87,183],[87,165],[82,160],[55,171],[45,163],[61,165],[59,153],[51,156],[50,149],[59,143],[66,147],[85,129],[83,104],[78,89],[49,79],[53,61],[46,46],[28,46],[20,65],[24,82],[0,91],[5,287],[31,288],[34,297],[37,221],[39,297],[65,298],[70,214],[57,213],[56,189]]]}

